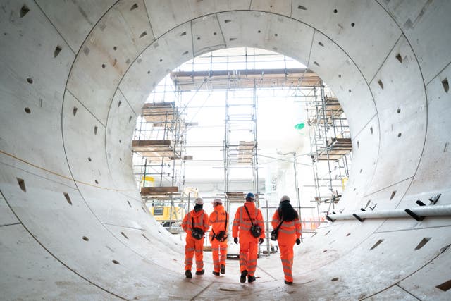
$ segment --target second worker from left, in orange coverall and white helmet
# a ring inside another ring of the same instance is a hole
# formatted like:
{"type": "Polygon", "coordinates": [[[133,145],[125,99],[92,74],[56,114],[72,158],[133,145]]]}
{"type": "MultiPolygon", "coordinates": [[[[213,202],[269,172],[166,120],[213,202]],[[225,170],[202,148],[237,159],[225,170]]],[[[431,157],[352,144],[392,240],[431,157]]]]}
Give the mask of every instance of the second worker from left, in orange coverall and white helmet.
{"type": "Polygon", "coordinates": [[[214,199],[213,212],[210,214],[210,242],[213,255],[213,274],[219,276],[226,274],[228,214],[223,207],[221,199],[214,199]],[[220,257],[221,254],[221,257],[220,257]]]}

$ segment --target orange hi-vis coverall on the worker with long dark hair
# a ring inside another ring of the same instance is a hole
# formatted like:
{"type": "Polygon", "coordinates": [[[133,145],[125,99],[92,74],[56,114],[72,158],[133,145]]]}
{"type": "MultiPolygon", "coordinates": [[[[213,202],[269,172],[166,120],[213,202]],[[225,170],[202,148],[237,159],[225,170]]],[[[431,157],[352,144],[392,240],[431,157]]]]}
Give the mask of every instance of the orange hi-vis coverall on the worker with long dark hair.
{"type": "MultiPolygon", "coordinates": [[[[273,215],[271,224],[273,228],[277,228],[280,223],[279,211],[273,215]]],[[[285,280],[293,282],[292,266],[293,266],[293,247],[297,238],[301,238],[301,222],[299,219],[294,221],[283,221],[280,225],[277,242],[280,250],[280,259],[282,260],[283,274],[285,274],[285,280]]]]}

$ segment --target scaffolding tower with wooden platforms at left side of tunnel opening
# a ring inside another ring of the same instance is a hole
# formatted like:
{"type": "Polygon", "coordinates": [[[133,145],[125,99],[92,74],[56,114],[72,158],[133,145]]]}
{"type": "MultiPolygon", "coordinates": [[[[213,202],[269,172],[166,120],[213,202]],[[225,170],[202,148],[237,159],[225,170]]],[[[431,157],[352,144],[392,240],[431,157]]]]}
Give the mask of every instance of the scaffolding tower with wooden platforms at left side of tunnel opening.
{"type": "Polygon", "coordinates": [[[132,140],[135,176],[139,177],[141,197],[165,228],[181,231],[181,221],[190,204],[190,192],[183,190],[186,123],[177,102],[144,104],[132,140]]]}

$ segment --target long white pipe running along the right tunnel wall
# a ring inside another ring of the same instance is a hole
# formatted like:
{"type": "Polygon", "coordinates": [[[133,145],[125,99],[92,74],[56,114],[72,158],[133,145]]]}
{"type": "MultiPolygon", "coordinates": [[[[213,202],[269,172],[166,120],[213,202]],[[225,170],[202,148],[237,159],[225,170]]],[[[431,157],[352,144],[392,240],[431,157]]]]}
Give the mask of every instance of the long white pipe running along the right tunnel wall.
{"type": "MultiPolygon", "coordinates": [[[[409,208],[417,216],[451,216],[451,205],[430,205],[409,208]]],[[[389,217],[411,217],[406,209],[385,209],[378,211],[357,211],[355,213],[361,219],[385,219],[389,217]]],[[[353,214],[328,214],[333,221],[337,219],[356,219],[353,214]]]]}

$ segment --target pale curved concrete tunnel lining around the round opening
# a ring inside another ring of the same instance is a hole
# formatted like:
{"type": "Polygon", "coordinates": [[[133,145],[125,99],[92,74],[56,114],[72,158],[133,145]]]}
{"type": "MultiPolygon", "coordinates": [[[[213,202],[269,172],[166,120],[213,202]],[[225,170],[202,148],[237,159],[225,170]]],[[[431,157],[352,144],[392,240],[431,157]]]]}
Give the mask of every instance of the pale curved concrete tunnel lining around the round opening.
{"type": "Polygon", "coordinates": [[[230,278],[185,281],[183,243],[144,210],[127,159],[149,82],[193,54],[259,47],[305,63],[338,95],[354,149],[343,214],[369,201],[377,209],[411,207],[438,193],[440,204],[450,204],[443,81],[451,75],[451,31],[441,30],[451,28],[451,4],[390,2],[25,1],[29,11],[20,16],[24,4],[2,1],[6,299],[449,298],[435,288],[450,280],[443,269],[450,265],[449,217],[330,223],[296,249],[297,285],[290,288],[281,287],[274,258],[259,259],[256,285],[238,285],[233,265],[230,278]],[[430,239],[415,250],[422,238],[430,239]]]}

